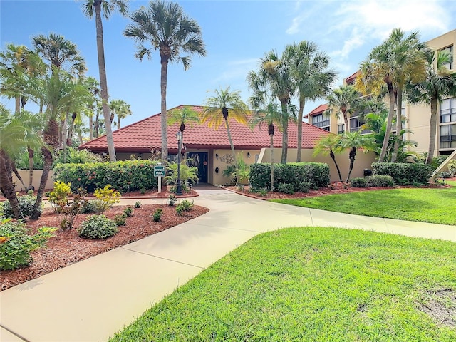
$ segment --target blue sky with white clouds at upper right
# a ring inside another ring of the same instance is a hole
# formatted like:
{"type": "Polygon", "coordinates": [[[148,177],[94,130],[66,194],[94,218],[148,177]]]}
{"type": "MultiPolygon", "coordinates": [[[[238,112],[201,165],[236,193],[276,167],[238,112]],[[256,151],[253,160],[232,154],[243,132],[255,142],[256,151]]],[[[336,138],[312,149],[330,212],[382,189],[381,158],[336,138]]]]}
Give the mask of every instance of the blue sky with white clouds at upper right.
{"type": "MultiPolygon", "coordinates": [[[[318,1],[177,1],[202,28],[207,56],[168,67],[167,108],[204,105],[215,89],[231,86],[247,101],[246,76],[257,70],[259,58],[271,49],[281,53],[289,43],[314,41],[331,57],[342,79],[356,71],[371,49],[393,28],[420,31],[423,41],[456,28],[456,1],[446,0],[318,0],[318,1]]],[[[86,58],[88,75],[98,79],[95,21],[81,11],[81,1],[0,0],[0,41],[31,47],[31,37],[51,32],[76,43],[86,58]]],[[[130,11],[148,1],[130,1],[130,11]]],[[[135,42],[123,36],[130,20],[113,14],[103,22],[110,99],[125,100],[133,115],[122,125],[160,112],[160,58],[135,58],[135,42]]],[[[13,109],[12,100],[1,102],[13,109]]],[[[309,113],[324,100],[308,103],[309,113]]],[[[296,103],[296,100],[295,100],[296,103]]],[[[27,108],[27,107],[26,107],[27,108]]],[[[34,110],[33,105],[28,110],[34,110]]]]}

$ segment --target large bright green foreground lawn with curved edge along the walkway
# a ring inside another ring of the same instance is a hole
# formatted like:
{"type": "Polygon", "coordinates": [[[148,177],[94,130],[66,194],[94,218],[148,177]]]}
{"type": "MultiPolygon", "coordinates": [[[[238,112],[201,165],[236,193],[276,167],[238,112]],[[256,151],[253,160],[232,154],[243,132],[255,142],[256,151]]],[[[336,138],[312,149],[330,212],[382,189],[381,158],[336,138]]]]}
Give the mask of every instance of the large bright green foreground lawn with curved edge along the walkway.
{"type": "Polygon", "coordinates": [[[254,237],[110,341],[456,341],[456,244],[303,227],[254,237]],[[420,311],[444,308],[452,326],[420,311]],[[446,308],[446,309],[445,309],[446,308]]]}

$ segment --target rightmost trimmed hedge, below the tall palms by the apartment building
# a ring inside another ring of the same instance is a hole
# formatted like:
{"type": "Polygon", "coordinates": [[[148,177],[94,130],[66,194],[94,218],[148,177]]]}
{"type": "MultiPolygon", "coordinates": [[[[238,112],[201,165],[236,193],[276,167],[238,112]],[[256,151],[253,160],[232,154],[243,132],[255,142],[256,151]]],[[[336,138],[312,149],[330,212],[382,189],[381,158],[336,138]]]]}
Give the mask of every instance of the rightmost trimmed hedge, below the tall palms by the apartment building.
{"type": "Polygon", "coordinates": [[[393,177],[397,185],[427,184],[432,175],[432,167],[422,163],[374,162],[374,175],[393,177]]]}

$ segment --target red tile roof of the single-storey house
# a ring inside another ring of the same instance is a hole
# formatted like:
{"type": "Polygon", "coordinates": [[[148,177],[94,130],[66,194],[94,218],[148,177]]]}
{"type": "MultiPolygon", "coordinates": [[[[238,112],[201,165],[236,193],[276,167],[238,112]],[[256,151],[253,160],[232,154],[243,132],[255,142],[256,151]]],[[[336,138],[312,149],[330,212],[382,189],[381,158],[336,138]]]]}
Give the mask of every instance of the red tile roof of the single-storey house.
{"type": "MultiPolygon", "coordinates": [[[[180,105],[176,108],[182,108],[180,105]]],[[[192,110],[201,113],[204,110],[202,106],[190,106],[192,110]]],[[[171,110],[175,110],[172,108],[171,110]]],[[[152,115],[149,118],[138,121],[131,125],[120,128],[113,132],[113,140],[115,150],[117,152],[150,152],[151,149],[161,149],[161,128],[160,128],[160,113],[152,115]]],[[[169,125],[167,128],[168,149],[177,151],[176,133],[179,130],[180,123],[169,125]]],[[[261,149],[269,147],[270,140],[268,128],[266,124],[257,125],[251,130],[246,125],[237,123],[236,120],[229,119],[229,128],[232,135],[234,147],[237,149],[261,149]]],[[[297,123],[289,123],[289,147],[296,148],[297,123]]],[[[302,136],[303,148],[313,148],[314,142],[322,135],[330,134],[326,130],[317,128],[314,125],[303,123],[302,136]]],[[[276,128],[274,135],[274,147],[281,147],[281,131],[276,128]]],[[[191,148],[229,148],[229,140],[227,131],[222,124],[218,130],[209,128],[206,123],[202,124],[187,124],[185,125],[183,142],[188,149],[191,148]]],[[[87,148],[93,152],[107,152],[106,136],[95,138],[81,145],[79,148],[87,148]]]]}

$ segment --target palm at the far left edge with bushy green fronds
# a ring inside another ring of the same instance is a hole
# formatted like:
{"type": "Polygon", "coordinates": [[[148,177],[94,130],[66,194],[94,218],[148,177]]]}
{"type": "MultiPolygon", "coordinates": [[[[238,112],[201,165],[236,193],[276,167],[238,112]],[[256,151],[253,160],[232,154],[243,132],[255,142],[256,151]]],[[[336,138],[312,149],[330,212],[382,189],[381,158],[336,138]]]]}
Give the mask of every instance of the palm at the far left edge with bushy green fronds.
{"type": "Polygon", "coordinates": [[[24,147],[38,147],[43,140],[33,130],[38,123],[33,115],[11,115],[4,105],[0,104],[0,184],[1,192],[11,204],[14,217],[22,217],[19,202],[14,191],[12,157],[24,147]]]}

